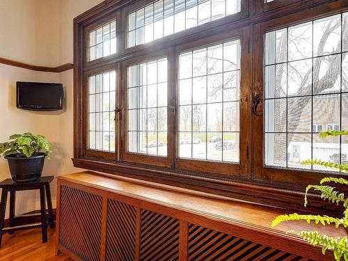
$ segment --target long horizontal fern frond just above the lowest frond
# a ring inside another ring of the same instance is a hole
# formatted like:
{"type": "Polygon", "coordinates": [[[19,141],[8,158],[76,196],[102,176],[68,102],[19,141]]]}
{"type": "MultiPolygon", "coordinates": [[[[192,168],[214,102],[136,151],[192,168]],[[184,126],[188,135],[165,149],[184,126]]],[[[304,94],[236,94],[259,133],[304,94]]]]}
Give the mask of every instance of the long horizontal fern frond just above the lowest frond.
{"type": "Polygon", "coordinates": [[[335,227],[338,228],[338,226],[344,226],[345,228],[348,228],[348,221],[346,219],[336,219],[331,216],[320,216],[320,215],[300,215],[297,213],[289,214],[289,215],[279,215],[272,221],[271,226],[275,227],[278,226],[279,223],[285,222],[285,221],[294,221],[294,220],[306,220],[307,223],[310,223],[310,221],[315,221],[316,224],[319,222],[325,226],[326,223],[330,225],[331,223],[335,223],[335,227]]]}

